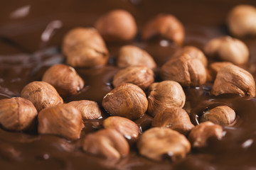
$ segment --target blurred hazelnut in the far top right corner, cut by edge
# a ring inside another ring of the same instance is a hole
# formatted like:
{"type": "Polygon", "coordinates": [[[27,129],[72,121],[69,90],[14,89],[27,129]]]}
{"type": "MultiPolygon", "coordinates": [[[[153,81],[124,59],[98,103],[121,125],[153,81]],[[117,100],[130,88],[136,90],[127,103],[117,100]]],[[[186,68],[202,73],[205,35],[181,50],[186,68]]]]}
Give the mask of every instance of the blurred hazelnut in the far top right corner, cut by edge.
{"type": "Polygon", "coordinates": [[[235,6],[227,18],[230,33],[243,37],[256,35],[256,8],[250,5],[235,6]]]}

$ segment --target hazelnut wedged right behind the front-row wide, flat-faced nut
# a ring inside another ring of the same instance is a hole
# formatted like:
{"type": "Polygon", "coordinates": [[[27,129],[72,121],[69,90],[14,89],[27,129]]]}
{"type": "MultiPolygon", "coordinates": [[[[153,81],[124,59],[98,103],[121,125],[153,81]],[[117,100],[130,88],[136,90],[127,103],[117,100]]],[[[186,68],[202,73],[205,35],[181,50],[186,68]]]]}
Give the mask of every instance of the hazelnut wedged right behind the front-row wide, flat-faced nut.
{"type": "Polygon", "coordinates": [[[166,108],[154,117],[152,126],[171,128],[183,135],[187,135],[195,127],[191,123],[188,113],[182,108],[166,108]]]}

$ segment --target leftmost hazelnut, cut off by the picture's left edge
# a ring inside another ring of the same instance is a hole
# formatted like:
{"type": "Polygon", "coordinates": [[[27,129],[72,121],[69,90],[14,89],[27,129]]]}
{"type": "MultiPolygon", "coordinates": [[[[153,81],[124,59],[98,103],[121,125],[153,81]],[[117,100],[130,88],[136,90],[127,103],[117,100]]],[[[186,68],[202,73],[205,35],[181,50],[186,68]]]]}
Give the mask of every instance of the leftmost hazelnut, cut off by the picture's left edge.
{"type": "Polygon", "coordinates": [[[25,98],[0,100],[0,124],[6,130],[20,131],[33,128],[37,114],[33,103],[25,98]]]}

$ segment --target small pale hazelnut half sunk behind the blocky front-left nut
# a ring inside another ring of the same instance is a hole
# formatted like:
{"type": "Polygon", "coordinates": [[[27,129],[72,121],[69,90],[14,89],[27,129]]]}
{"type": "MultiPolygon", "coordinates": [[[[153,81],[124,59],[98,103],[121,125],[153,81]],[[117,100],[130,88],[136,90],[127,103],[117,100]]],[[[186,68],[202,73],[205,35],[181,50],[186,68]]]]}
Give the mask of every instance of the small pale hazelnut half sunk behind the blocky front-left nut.
{"type": "Polygon", "coordinates": [[[102,116],[102,111],[100,110],[100,107],[95,101],[71,101],[68,104],[74,106],[78,109],[78,111],[80,111],[83,120],[97,119],[102,116]]]}

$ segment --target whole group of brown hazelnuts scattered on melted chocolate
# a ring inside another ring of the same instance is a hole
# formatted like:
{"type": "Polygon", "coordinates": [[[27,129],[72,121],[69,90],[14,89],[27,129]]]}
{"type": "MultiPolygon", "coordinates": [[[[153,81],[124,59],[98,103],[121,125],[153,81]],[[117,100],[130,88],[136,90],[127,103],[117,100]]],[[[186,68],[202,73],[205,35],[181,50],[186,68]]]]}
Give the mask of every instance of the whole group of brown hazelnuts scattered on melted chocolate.
{"type": "MultiPolygon", "coordinates": [[[[230,33],[236,37],[256,35],[256,8],[236,6],[228,15],[230,33]]],[[[110,11],[100,17],[95,28],[75,28],[63,40],[67,64],[55,64],[21,91],[21,97],[0,101],[0,124],[6,130],[28,130],[53,134],[68,140],[78,140],[84,127],[83,120],[102,117],[95,101],[63,103],[63,97],[79,93],[84,81],[73,67],[100,67],[107,63],[109,52],[105,41],[132,40],[137,26],[130,13],[110,11]],[[96,29],[95,29],[96,28],[96,29]],[[105,40],[105,41],[104,41],[105,40]]],[[[184,28],[175,16],[161,14],[152,18],[142,32],[142,39],[161,36],[182,45],[184,28]]],[[[162,65],[155,82],[156,63],[145,50],[124,45],[119,50],[114,75],[114,89],[102,99],[102,107],[109,113],[98,130],[87,135],[82,148],[85,152],[119,159],[129,154],[127,140],[136,140],[139,153],[154,160],[168,155],[175,161],[186,157],[191,147],[204,147],[209,137],[223,137],[223,126],[235,123],[235,111],[229,106],[218,106],[203,113],[199,125],[193,125],[187,111],[184,87],[195,87],[213,82],[211,94],[240,94],[255,96],[252,75],[239,67],[249,58],[244,42],[224,36],[210,40],[204,52],[197,47],[181,47],[162,65]],[[206,54],[206,55],[205,55],[206,54]],[[223,62],[208,65],[207,57],[218,57],[223,62]],[[147,91],[147,94],[145,93],[147,91]],[[147,113],[153,117],[152,128],[142,133],[133,120],[147,113]]]]}

